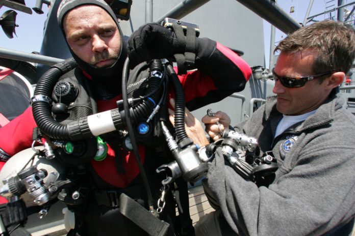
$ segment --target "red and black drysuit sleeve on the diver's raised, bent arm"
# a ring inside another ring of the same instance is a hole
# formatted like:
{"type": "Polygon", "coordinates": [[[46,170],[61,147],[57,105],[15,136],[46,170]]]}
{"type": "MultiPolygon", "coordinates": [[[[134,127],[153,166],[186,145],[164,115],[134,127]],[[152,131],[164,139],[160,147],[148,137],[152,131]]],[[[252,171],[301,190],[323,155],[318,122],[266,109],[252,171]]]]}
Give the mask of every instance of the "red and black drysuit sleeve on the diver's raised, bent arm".
{"type": "Polygon", "coordinates": [[[196,42],[197,70],[179,75],[189,110],[244,90],[251,75],[249,65],[231,49],[208,38],[197,38],[196,42]]]}

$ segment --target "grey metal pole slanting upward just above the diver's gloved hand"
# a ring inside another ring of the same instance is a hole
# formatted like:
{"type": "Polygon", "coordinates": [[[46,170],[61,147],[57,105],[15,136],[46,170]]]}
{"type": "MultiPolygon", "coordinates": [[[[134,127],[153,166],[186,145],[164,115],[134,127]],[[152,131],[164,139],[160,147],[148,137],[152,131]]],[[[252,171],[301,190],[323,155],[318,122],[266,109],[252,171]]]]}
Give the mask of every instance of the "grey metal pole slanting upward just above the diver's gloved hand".
{"type": "Polygon", "coordinates": [[[176,5],[169,12],[165,13],[155,22],[160,24],[165,17],[174,18],[177,20],[181,19],[209,1],[210,0],[185,0],[180,4],[176,5]]]}

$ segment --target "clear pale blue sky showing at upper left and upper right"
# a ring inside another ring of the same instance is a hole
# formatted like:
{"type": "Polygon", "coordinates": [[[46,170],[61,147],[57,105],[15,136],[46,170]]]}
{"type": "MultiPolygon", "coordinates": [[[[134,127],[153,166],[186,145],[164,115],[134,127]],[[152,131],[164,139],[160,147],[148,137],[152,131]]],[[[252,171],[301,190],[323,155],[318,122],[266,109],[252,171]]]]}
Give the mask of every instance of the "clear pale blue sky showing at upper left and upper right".
{"type": "MultiPolygon", "coordinates": [[[[136,0],[137,1],[137,0],[136,0]]],[[[143,0],[138,0],[143,1],[143,0]]],[[[229,0],[233,2],[232,0],[229,0]]],[[[353,0],[345,0],[344,4],[351,3],[353,0]]],[[[35,6],[35,0],[26,1],[27,6],[32,8],[35,6]]],[[[309,0],[277,0],[277,4],[284,9],[285,12],[289,13],[297,22],[303,22],[306,16],[306,12],[309,6],[309,0]],[[290,8],[294,7],[294,13],[290,13],[290,8]]],[[[329,3],[329,0],[314,0],[310,16],[324,12],[326,6],[335,4],[329,3]]],[[[333,7],[334,8],[334,7],[333,7]]],[[[6,7],[0,9],[0,15],[4,14],[5,11],[9,10],[6,7]]],[[[38,25],[44,25],[45,18],[48,12],[47,5],[43,4],[42,10],[44,14],[37,14],[33,11],[32,15],[17,11],[16,23],[19,25],[16,27],[17,37],[14,36],[13,39],[7,38],[7,36],[0,30],[0,47],[7,49],[14,49],[23,52],[33,52],[41,50],[43,27],[38,27],[38,25]]],[[[323,20],[325,17],[323,15],[315,18],[317,20],[323,20]]],[[[269,55],[270,55],[270,31],[271,25],[264,20],[264,42],[265,42],[265,62],[268,67],[269,55]]],[[[275,43],[277,44],[286,35],[276,28],[275,31],[275,43]]]]}

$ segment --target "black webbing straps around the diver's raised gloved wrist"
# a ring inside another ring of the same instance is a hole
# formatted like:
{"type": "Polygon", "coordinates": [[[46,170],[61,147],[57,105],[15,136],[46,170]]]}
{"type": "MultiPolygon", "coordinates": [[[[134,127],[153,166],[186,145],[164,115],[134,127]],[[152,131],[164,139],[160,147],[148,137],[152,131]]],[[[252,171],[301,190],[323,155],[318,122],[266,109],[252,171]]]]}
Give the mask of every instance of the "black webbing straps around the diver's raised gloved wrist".
{"type": "Polygon", "coordinates": [[[172,28],[177,39],[177,51],[184,51],[184,54],[174,54],[177,70],[179,74],[186,74],[186,71],[193,69],[195,65],[196,30],[192,27],[187,27],[185,36],[181,25],[173,24],[172,28]]]}

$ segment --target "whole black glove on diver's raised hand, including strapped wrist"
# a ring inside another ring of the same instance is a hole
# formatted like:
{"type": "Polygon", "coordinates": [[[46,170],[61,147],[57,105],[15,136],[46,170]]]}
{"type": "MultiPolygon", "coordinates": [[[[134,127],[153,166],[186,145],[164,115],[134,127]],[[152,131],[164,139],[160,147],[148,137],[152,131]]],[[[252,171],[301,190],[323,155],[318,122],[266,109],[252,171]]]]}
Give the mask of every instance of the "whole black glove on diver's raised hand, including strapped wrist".
{"type": "MultiPolygon", "coordinates": [[[[181,26],[174,25],[173,28],[174,31],[171,31],[160,24],[148,23],[133,32],[128,40],[127,50],[131,67],[152,59],[170,59],[172,56],[177,58],[186,51],[194,53],[195,32],[189,33],[192,30],[189,29],[186,37],[181,26]],[[189,35],[193,36],[189,37],[189,35]],[[188,38],[188,43],[186,38],[188,38]]],[[[194,60],[194,56],[193,54],[189,59],[193,57],[194,60]]],[[[179,60],[176,61],[179,66],[179,60]]]]}

